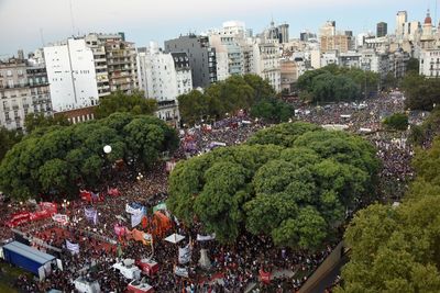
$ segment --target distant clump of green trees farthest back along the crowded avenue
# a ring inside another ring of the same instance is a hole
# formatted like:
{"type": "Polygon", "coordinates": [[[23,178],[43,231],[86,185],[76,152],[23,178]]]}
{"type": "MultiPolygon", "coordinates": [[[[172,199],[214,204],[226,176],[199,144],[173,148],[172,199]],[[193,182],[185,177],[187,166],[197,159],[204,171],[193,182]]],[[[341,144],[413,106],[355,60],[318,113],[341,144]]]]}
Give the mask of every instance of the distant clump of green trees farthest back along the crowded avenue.
{"type": "Polygon", "coordinates": [[[380,78],[372,71],[328,65],[298,78],[300,98],[308,102],[353,101],[377,91],[380,78]]]}

